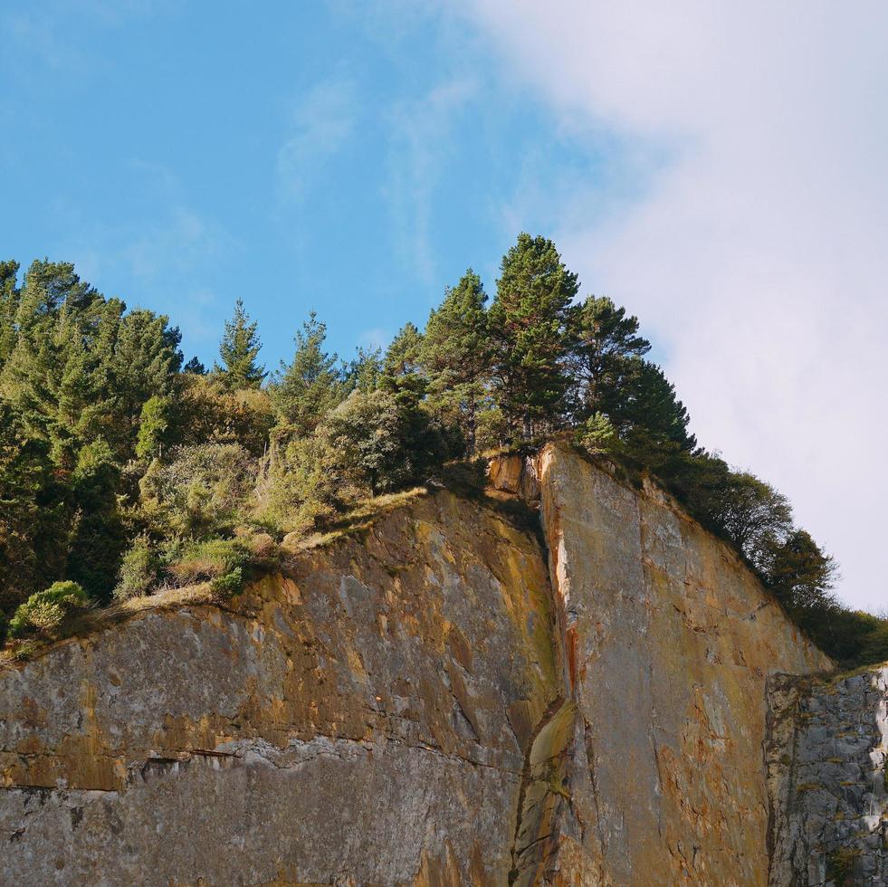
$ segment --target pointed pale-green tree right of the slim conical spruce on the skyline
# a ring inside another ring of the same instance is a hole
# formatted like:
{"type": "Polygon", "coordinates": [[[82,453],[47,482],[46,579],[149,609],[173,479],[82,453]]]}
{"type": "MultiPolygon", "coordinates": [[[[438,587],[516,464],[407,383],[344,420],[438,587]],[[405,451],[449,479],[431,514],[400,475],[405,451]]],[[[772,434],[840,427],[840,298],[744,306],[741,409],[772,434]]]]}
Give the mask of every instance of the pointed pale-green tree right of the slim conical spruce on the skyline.
{"type": "Polygon", "coordinates": [[[335,354],[324,350],[327,326],[314,311],[296,333],[296,353],[290,364],[281,364],[272,387],[272,402],[282,424],[297,435],[311,434],[345,396],[345,385],[336,367],[335,354]]]}

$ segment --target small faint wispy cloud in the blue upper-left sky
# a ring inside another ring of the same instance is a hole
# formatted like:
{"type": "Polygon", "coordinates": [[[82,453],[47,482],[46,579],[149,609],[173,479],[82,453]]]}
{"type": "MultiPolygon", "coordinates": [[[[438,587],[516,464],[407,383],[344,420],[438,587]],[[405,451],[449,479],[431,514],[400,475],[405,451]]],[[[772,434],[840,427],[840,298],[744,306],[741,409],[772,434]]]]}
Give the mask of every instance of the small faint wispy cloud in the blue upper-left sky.
{"type": "Polygon", "coordinates": [[[305,195],[325,161],[347,142],[357,119],[357,96],[350,81],[321,81],[301,96],[287,140],[278,151],[284,196],[305,195]]]}

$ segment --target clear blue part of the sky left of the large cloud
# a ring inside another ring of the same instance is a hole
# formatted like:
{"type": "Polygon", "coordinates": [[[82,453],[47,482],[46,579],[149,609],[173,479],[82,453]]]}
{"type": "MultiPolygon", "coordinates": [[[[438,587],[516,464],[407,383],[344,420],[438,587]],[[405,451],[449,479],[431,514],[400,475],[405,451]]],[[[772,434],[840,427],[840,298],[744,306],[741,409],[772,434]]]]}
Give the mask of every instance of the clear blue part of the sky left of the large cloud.
{"type": "Polygon", "coordinates": [[[576,181],[595,216],[638,187],[619,138],[566,126],[482,35],[367,8],[5,4],[2,252],[76,262],[207,362],[242,297],[277,366],[309,310],[343,355],[381,344],[470,265],[492,289],[576,181]]]}

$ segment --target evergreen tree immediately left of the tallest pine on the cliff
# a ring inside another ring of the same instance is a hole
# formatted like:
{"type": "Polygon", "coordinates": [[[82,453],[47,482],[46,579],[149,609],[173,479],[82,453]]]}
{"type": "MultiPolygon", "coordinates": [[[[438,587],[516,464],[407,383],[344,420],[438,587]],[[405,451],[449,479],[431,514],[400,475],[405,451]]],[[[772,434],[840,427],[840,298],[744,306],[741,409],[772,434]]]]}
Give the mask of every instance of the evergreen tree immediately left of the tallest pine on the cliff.
{"type": "Polygon", "coordinates": [[[470,451],[477,416],[487,399],[491,351],[486,301],[481,278],[470,268],[432,311],[420,349],[429,378],[429,406],[444,421],[457,424],[470,451]]]}

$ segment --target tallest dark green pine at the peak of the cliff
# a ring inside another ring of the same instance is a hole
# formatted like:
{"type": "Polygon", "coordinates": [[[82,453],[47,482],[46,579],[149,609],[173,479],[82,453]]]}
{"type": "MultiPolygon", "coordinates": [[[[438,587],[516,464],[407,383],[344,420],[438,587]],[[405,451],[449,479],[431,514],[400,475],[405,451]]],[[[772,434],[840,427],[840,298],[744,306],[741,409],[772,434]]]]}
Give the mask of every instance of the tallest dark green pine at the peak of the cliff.
{"type": "Polygon", "coordinates": [[[558,424],[565,406],[570,303],[577,275],[555,244],[520,234],[502,258],[489,315],[492,381],[503,413],[525,440],[536,427],[558,424]]]}

